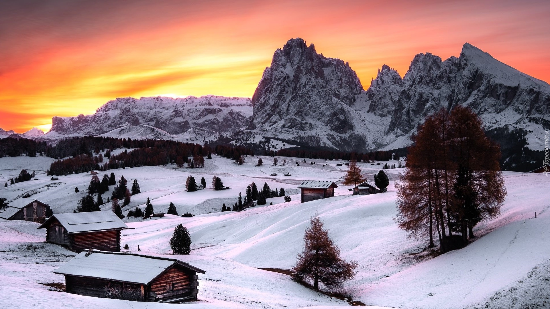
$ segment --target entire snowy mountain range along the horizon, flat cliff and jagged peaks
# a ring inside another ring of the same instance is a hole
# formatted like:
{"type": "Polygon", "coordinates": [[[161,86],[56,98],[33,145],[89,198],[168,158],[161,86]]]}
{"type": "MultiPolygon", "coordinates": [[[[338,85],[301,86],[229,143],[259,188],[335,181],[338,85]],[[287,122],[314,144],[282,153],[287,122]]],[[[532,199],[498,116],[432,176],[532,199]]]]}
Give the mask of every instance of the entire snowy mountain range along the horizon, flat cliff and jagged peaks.
{"type": "Polygon", "coordinates": [[[390,150],[410,145],[427,115],[458,105],[472,108],[488,130],[523,128],[533,149],[550,128],[550,85],[469,43],[447,60],[417,54],[403,78],[383,65],[365,91],[348,63],[295,38],[274,53],[252,99],[117,98],[92,115],[54,117],[44,137],[179,139],[250,131],[298,145],[390,150]]]}

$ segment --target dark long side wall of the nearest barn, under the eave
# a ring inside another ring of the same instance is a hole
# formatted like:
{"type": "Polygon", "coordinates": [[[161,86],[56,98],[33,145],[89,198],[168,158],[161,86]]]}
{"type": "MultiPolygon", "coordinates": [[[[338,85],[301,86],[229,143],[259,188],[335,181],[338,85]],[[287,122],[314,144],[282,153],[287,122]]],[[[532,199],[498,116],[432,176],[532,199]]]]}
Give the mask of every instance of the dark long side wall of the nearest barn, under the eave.
{"type": "Polygon", "coordinates": [[[68,293],[85,296],[134,301],[144,300],[140,284],[106,279],[65,275],[65,290],[68,293]]]}

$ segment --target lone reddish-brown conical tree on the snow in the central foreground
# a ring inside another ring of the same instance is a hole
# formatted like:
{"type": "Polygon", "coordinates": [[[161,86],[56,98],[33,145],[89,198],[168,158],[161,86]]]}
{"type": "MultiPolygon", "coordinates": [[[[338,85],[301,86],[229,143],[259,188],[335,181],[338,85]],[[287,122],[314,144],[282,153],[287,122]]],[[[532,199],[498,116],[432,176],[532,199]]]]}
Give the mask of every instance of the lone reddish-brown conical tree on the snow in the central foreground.
{"type": "Polygon", "coordinates": [[[319,289],[319,282],[327,288],[339,288],[342,283],[353,279],[356,262],[346,262],[340,257],[340,249],[334,244],[322,220],[316,214],[310,219],[310,226],[304,234],[304,249],[298,255],[293,277],[298,281],[313,281],[313,289],[319,289]]]}

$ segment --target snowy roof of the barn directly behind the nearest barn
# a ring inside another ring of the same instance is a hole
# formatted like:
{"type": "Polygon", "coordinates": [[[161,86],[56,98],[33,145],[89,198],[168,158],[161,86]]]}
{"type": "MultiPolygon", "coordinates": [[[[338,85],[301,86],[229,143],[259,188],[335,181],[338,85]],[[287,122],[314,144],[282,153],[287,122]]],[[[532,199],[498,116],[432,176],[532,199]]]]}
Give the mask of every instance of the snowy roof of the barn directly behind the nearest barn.
{"type": "Polygon", "coordinates": [[[112,211],[56,213],[38,228],[46,228],[53,219],[57,219],[67,233],[128,228],[112,211]]]}

